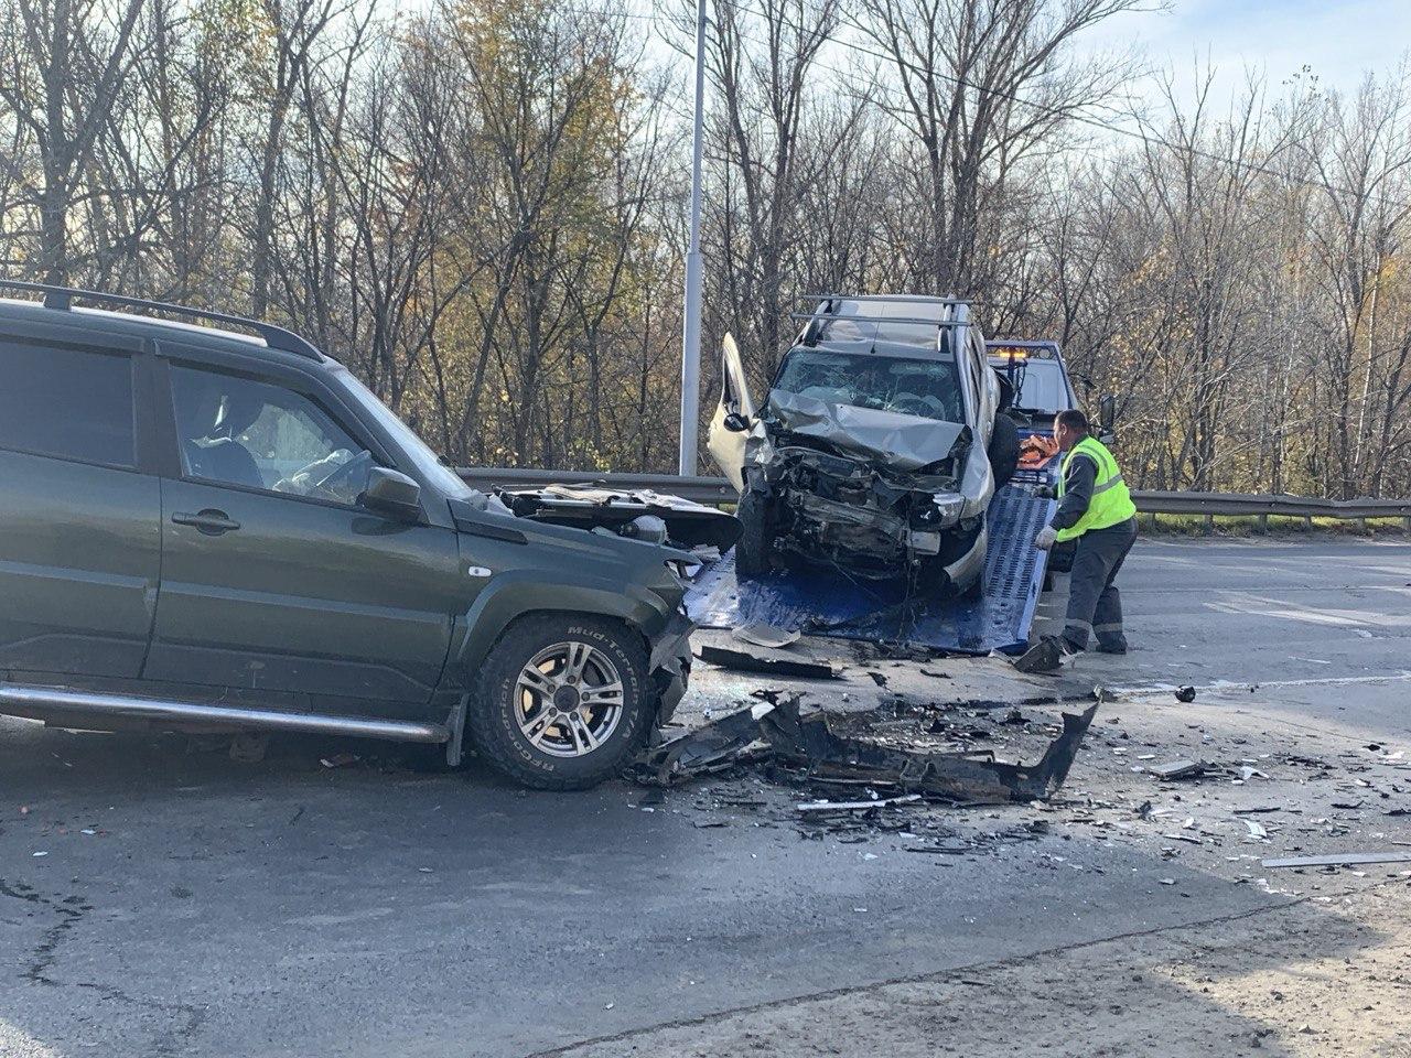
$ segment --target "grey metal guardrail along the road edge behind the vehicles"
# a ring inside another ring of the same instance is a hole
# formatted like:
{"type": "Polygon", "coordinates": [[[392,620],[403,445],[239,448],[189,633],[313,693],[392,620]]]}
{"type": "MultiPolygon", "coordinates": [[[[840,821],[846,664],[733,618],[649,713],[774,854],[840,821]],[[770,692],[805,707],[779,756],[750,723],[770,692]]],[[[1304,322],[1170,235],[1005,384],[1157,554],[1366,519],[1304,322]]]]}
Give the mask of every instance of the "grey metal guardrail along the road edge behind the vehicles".
{"type": "MultiPolygon", "coordinates": [[[[615,474],[583,470],[519,470],[512,467],[459,467],[460,477],[471,485],[533,488],[538,485],[598,484],[607,488],[652,490],[698,504],[735,501],[735,488],[725,478],[676,474],[615,474]]],[[[1264,523],[1270,515],[1288,518],[1401,518],[1411,528],[1411,499],[1319,499],[1316,497],[1249,495],[1243,492],[1160,492],[1133,490],[1137,511],[1149,515],[1256,516],[1264,523]]]]}

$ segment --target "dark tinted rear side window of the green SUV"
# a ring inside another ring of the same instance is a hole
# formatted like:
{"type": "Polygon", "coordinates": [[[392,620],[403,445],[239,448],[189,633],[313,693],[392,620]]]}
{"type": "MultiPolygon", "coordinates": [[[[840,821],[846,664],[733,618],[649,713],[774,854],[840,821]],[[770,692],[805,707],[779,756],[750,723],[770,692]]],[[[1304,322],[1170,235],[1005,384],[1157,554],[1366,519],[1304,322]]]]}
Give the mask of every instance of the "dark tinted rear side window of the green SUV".
{"type": "Polygon", "coordinates": [[[135,466],[133,360],[0,339],[0,449],[135,466]]]}

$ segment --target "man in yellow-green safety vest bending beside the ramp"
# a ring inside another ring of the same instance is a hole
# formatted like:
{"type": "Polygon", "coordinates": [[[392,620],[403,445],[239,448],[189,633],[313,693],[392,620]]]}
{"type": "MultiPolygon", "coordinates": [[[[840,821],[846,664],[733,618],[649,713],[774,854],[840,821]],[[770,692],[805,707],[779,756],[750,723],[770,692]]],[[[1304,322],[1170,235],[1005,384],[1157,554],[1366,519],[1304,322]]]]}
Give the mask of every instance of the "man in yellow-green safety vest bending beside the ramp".
{"type": "Polygon", "coordinates": [[[1062,470],[1053,498],[1058,509],[1034,539],[1048,550],[1054,543],[1077,540],[1068,580],[1068,616],[1062,635],[1044,636],[1015,666],[1022,671],[1057,670],[1065,657],[1088,649],[1127,652],[1122,635],[1122,595],[1115,584],[1122,560],[1137,539],[1137,508],[1132,502],[1118,461],[1089,433],[1088,416],[1077,409],[1054,419],[1054,437],[1064,451],[1062,470]]]}

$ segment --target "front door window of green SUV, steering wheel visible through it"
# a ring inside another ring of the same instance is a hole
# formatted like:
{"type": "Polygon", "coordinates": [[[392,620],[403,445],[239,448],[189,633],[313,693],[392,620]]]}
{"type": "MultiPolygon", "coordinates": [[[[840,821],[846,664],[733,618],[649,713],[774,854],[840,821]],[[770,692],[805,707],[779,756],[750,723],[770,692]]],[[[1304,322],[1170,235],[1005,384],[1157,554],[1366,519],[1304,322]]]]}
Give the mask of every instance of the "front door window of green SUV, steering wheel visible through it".
{"type": "Polygon", "coordinates": [[[182,473],[353,506],[373,454],[317,402],[254,378],[172,365],[182,473]]]}

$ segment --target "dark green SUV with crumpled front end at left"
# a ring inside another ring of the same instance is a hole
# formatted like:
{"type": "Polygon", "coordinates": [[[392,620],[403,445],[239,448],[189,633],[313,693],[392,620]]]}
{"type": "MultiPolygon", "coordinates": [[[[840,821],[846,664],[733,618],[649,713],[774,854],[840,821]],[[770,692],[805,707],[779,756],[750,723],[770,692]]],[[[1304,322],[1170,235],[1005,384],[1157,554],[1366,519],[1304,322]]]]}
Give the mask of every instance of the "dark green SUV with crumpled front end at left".
{"type": "Polygon", "coordinates": [[[42,295],[0,299],[0,714],[444,743],[453,765],[466,735],[573,789],[676,707],[691,556],[662,519],[518,516],[279,327],[0,288],[42,295]]]}

